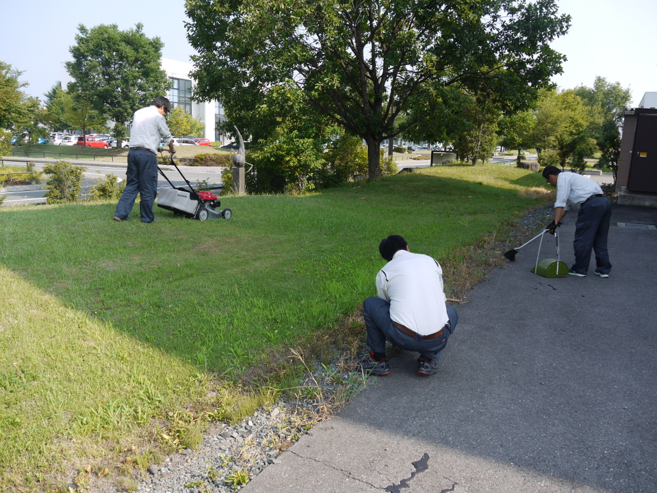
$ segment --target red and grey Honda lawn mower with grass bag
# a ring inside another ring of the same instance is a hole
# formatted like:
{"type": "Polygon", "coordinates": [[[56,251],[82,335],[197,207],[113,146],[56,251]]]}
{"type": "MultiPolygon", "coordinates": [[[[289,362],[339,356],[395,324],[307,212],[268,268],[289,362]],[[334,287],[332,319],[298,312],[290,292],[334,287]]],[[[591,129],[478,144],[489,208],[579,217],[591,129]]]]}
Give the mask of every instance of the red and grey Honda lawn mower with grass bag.
{"type": "MultiPolygon", "coordinates": [[[[164,155],[162,155],[164,160],[164,155]]],[[[157,166],[159,174],[168,181],[171,188],[162,188],[157,194],[157,207],[170,210],[178,216],[185,216],[190,219],[206,220],[206,219],[228,219],[231,217],[232,212],[230,209],[218,210],[221,202],[218,197],[209,191],[196,191],[192,184],[185,178],[183,172],[173,160],[173,154],[170,155],[170,164],[175,166],[180,173],[189,189],[174,186],[170,179],[166,177],[164,172],[157,166]]],[[[217,186],[212,190],[221,190],[223,186],[217,186]]]]}

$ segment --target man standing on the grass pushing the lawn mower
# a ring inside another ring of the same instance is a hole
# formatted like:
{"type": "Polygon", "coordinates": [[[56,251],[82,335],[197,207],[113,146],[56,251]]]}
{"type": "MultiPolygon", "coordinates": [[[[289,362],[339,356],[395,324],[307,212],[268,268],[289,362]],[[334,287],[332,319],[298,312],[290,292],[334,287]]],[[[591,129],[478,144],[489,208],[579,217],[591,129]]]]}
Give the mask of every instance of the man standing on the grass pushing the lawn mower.
{"type": "Polygon", "coordinates": [[[157,223],[153,214],[153,203],[157,195],[157,151],[159,142],[169,143],[169,152],[175,153],[173,137],[166,125],[164,115],[171,110],[171,103],[164,96],[153,99],[153,104],[137,110],[130,129],[130,151],[125,174],[125,188],[116,204],[113,219],[130,220],[128,215],[140,194],[139,210],[142,223],[157,223]]]}

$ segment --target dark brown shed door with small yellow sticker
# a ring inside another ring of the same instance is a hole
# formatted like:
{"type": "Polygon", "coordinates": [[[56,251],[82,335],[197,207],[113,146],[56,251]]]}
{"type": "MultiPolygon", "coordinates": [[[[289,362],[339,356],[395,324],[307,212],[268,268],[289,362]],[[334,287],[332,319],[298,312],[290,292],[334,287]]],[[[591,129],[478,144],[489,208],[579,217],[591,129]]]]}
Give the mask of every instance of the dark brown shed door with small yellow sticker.
{"type": "Polygon", "coordinates": [[[657,193],[657,114],[639,114],[628,190],[657,193]]]}

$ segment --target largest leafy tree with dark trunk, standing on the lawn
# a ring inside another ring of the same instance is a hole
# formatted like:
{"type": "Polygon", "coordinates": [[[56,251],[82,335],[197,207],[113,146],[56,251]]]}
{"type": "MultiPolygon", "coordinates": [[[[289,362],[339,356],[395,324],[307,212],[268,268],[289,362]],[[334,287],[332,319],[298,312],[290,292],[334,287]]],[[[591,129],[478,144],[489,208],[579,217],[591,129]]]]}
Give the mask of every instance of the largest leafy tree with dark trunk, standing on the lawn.
{"type": "Polygon", "coordinates": [[[570,20],[554,0],[187,0],[186,11],[196,97],[257,105],[294,81],[367,142],[371,178],[381,141],[435,123],[454,93],[526,105],[561,72],[550,42],[570,20]]]}

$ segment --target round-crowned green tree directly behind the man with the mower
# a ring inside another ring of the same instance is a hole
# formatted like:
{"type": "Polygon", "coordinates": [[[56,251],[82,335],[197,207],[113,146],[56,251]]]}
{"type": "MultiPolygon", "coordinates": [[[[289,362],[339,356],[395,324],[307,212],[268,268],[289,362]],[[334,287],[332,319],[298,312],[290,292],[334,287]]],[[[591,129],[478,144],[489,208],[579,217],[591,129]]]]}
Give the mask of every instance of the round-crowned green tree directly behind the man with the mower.
{"type": "Polygon", "coordinates": [[[77,44],[70,47],[73,62],[66,69],[71,89],[83,94],[96,111],[114,121],[114,136],[127,138],[133,113],[166,94],[168,79],[160,66],[162,41],[148,38],[142,24],[120,31],[116,24],[87,29],[79,25],[77,44]]]}

